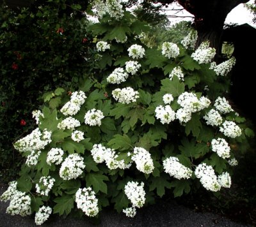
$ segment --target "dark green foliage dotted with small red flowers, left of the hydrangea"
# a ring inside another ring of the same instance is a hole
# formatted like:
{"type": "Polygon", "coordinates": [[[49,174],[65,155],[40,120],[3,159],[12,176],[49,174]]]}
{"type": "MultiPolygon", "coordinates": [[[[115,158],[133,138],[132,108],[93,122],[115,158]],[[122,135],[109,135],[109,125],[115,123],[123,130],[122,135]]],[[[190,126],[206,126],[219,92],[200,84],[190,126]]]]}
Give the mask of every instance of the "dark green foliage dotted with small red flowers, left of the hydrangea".
{"type": "MultiPolygon", "coordinates": [[[[81,6],[86,7],[84,3],[81,6]]],[[[31,8],[16,11],[0,6],[2,179],[13,177],[20,168],[22,159],[12,142],[35,127],[31,112],[42,105],[42,94],[51,109],[58,108],[61,94],[77,89],[79,78],[92,69],[88,21],[77,11],[79,4],[65,8],[67,4],[65,0],[33,1],[31,8]],[[62,88],[54,91],[56,87],[62,88]],[[26,125],[20,125],[22,120],[26,125]]]]}

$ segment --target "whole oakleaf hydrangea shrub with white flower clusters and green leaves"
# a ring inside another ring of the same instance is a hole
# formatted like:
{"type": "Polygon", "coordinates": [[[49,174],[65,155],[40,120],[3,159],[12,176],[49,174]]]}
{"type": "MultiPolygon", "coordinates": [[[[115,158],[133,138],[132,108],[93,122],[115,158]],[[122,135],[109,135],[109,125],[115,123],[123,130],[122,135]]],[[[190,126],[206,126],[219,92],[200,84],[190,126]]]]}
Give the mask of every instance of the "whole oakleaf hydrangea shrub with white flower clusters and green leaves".
{"type": "Polygon", "coordinates": [[[210,63],[215,50],[148,48],[136,38],[147,24],[115,2],[89,27],[99,54],[93,73],[78,91],[59,89],[60,103],[46,101],[34,112],[38,127],[14,143],[27,161],[1,196],[9,214],[35,213],[42,224],[113,205],[134,217],[166,191],[230,187],[252,131],[225,98],[228,77],[210,63]]]}

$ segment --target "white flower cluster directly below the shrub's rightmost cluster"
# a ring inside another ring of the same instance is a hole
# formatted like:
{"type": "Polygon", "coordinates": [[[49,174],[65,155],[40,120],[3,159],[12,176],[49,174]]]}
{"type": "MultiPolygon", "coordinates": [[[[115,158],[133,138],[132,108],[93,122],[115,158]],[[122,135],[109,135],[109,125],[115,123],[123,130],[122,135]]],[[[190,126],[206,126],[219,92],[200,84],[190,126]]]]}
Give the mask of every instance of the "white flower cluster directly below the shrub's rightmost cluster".
{"type": "Polygon", "coordinates": [[[212,151],[216,152],[218,156],[222,158],[230,157],[230,147],[228,143],[223,138],[218,138],[217,140],[213,139],[211,142],[212,151]]]}

